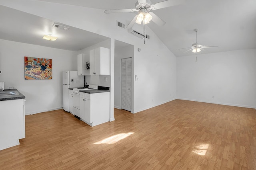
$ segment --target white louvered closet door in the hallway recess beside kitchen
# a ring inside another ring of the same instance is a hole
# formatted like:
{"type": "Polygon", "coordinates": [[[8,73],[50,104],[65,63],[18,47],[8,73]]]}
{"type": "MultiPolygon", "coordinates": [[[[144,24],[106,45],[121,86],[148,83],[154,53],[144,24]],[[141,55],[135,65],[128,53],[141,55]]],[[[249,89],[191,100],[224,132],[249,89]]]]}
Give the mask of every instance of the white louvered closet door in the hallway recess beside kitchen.
{"type": "Polygon", "coordinates": [[[132,111],[132,58],[122,59],[122,109],[132,111]]]}

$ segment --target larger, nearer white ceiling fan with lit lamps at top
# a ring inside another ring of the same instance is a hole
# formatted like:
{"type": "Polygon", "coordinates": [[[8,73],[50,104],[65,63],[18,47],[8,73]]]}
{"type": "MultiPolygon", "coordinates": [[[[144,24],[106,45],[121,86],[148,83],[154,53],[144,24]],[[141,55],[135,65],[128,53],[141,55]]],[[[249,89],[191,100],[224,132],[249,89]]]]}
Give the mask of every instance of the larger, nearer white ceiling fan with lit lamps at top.
{"type": "Polygon", "coordinates": [[[175,6],[184,3],[186,0],[166,0],[162,2],[158,2],[156,4],[152,4],[150,0],[138,0],[135,3],[135,8],[133,9],[120,9],[120,10],[105,10],[106,14],[116,13],[116,12],[138,12],[139,14],[134,17],[134,19],[128,24],[127,29],[132,28],[135,23],[138,24],[147,24],[151,20],[159,26],[164,25],[166,22],[161,18],[156,16],[153,12],[149,12],[150,10],[158,10],[161,8],[166,8],[170,6],[175,6]],[[143,22],[142,22],[143,21],[143,22]]]}

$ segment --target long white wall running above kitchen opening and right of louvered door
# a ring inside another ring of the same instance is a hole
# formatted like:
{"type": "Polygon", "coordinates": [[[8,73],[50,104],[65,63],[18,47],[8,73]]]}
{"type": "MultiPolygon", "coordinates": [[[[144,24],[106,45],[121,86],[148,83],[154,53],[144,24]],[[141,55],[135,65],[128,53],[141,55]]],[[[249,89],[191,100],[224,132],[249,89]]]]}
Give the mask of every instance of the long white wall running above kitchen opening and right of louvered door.
{"type": "MultiPolygon", "coordinates": [[[[116,27],[116,20],[128,25],[134,14],[105,14],[100,9],[31,0],[1,0],[0,4],[134,45],[134,74],[139,78],[134,82],[134,113],[176,98],[176,57],[173,53],[147,25],[146,33],[151,38],[146,44],[126,29],[116,27]],[[138,47],[141,52],[137,51],[138,47]]],[[[114,107],[114,102],[110,107],[114,107]]]]}

